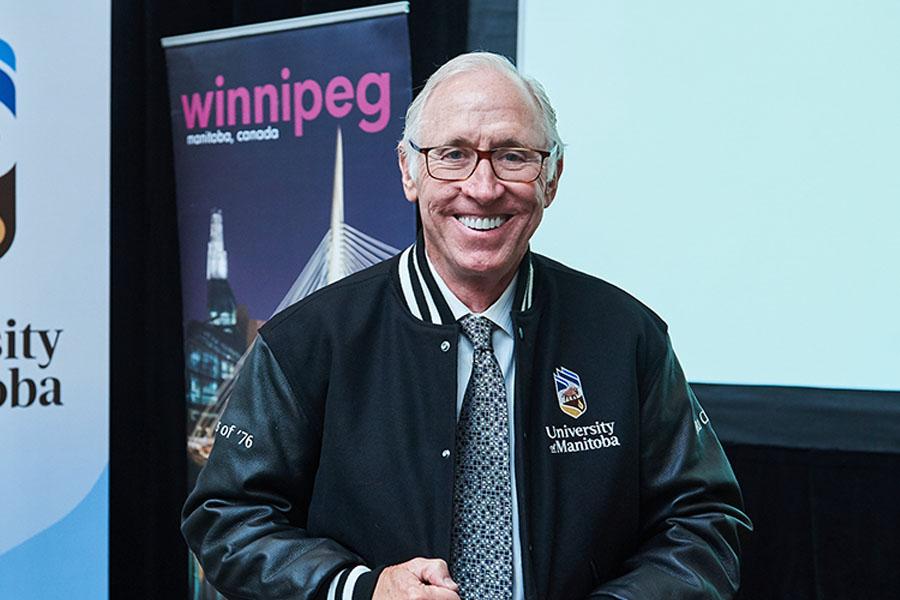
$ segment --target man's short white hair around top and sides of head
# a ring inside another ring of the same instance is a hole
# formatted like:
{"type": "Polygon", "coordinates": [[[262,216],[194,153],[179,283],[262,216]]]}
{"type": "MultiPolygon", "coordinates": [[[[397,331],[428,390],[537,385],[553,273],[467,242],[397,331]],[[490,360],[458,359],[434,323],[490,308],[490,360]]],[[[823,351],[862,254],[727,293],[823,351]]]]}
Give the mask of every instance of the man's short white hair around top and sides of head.
{"type": "Polygon", "coordinates": [[[422,110],[431,98],[431,94],[443,81],[450,79],[455,75],[462,73],[473,73],[476,71],[492,70],[496,73],[508,77],[510,81],[522,89],[522,91],[534,99],[539,109],[539,120],[541,125],[541,133],[546,139],[547,148],[552,154],[546,160],[547,182],[552,182],[556,177],[557,162],[563,156],[563,142],[559,137],[559,131],[556,129],[556,111],[550,104],[550,97],[544,87],[533,77],[522,75],[518,69],[505,56],[494,54],[492,52],[469,52],[460,54],[453,58],[440,69],[432,73],[425,87],[412,101],[406,111],[406,123],[403,128],[403,137],[397,145],[397,150],[407,157],[407,166],[409,173],[413,179],[418,177],[419,163],[417,160],[418,152],[409,144],[410,140],[421,143],[422,133],[422,110]]]}

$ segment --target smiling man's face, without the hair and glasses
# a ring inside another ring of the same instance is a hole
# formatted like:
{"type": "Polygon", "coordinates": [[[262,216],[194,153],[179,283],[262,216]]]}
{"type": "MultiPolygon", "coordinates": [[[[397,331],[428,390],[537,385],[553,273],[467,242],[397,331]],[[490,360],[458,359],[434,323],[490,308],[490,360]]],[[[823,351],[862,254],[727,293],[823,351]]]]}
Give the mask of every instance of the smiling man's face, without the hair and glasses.
{"type": "MultiPolygon", "coordinates": [[[[490,149],[547,150],[536,103],[507,77],[485,70],[464,73],[439,84],[422,110],[421,147],[455,145],[490,149]]],[[[497,179],[481,160],[465,181],[438,181],[428,175],[425,158],[401,155],[403,187],[419,203],[425,247],[448,285],[504,286],[525,255],[528,241],[556,193],[546,183],[546,165],[537,181],[497,179]],[[406,161],[420,161],[417,177],[406,161]],[[475,219],[482,219],[481,224],[475,219]],[[484,229],[485,221],[496,227],[484,229]]]]}

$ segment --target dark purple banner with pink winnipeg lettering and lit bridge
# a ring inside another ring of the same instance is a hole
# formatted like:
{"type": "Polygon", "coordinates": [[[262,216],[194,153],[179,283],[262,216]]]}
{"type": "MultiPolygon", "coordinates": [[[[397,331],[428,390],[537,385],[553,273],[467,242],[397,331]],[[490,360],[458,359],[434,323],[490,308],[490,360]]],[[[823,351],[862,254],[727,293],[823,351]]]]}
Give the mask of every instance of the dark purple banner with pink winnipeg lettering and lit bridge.
{"type": "MultiPolygon", "coordinates": [[[[415,236],[395,146],[408,3],[163,39],[169,74],[189,476],[257,329],[415,236]]],[[[191,559],[193,598],[215,592],[191,559]]]]}

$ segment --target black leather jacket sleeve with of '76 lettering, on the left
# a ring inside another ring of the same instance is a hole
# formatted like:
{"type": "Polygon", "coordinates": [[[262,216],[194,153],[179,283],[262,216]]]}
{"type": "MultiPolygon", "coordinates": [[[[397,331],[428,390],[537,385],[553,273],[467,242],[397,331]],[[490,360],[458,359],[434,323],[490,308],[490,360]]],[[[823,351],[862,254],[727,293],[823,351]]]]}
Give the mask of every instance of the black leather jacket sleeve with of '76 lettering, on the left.
{"type": "Polygon", "coordinates": [[[341,568],[363,562],[305,529],[320,424],[302,400],[257,338],[183,512],[185,539],[228,598],[322,598],[341,568]]]}

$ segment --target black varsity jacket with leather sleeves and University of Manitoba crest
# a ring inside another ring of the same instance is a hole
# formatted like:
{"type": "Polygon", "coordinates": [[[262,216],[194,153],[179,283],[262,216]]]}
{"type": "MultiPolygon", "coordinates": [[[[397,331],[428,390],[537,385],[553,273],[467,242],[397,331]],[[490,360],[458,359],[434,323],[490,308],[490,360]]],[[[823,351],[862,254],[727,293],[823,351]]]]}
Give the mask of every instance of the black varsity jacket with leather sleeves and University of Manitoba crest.
{"type": "MultiPolygon", "coordinates": [[[[531,253],[517,287],[526,598],[731,597],[751,526],[665,323],[531,253]]],[[[184,507],[217,589],[370,598],[383,567],[449,557],[458,333],[421,243],[260,330],[184,507]]]]}

